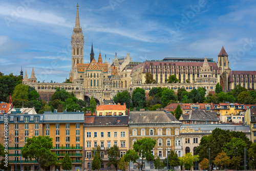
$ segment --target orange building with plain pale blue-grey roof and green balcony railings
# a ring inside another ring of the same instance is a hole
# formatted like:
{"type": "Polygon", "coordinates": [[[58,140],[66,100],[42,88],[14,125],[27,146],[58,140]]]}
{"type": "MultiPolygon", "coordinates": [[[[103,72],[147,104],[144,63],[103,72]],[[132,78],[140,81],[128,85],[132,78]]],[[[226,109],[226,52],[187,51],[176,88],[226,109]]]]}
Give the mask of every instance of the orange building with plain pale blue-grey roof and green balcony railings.
{"type": "MultiPolygon", "coordinates": [[[[45,113],[42,135],[53,139],[51,151],[62,160],[66,153],[72,160],[72,170],[81,170],[83,163],[83,112],[45,113]]],[[[55,170],[62,170],[56,167],[55,170]]]]}

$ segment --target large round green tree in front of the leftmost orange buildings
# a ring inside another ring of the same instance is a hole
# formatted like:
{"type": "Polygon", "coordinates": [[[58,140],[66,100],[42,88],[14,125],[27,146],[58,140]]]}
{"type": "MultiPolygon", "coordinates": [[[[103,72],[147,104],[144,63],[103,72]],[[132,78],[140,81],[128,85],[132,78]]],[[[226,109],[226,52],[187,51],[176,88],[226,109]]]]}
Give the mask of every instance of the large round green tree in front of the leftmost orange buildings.
{"type": "MultiPolygon", "coordinates": [[[[49,136],[33,136],[27,139],[27,143],[22,148],[22,157],[35,159],[38,163],[42,163],[45,155],[51,153],[52,138],[49,136]]],[[[40,165],[39,165],[40,168],[40,165]]]]}

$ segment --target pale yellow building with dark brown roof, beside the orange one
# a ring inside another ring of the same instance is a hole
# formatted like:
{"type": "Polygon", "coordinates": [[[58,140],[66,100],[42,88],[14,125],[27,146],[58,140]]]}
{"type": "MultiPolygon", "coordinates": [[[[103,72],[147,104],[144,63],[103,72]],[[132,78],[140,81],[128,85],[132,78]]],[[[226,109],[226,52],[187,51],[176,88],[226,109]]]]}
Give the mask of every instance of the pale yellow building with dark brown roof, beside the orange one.
{"type": "Polygon", "coordinates": [[[106,165],[108,154],[106,149],[114,145],[119,147],[120,156],[129,149],[128,116],[86,116],[84,119],[84,169],[91,167],[91,151],[100,146],[101,169],[112,169],[106,165]]]}

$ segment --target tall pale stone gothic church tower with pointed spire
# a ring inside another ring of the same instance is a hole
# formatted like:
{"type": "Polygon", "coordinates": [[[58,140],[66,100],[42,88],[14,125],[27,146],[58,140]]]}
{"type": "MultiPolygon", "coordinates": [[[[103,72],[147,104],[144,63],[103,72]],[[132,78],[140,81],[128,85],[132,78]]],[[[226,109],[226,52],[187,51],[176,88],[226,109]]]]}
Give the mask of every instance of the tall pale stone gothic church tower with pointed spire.
{"type": "Polygon", "coordinates": [[[77,63],[83,63],[83,44],[84,36],[82,35],[82,28],[80,27],[79,22],[79,12],[78,4],[76,10],[76,23],[73,28],[73,34],[71,36],[71,46],[72,46],[72,77],[74,73],[77,72],[77,63]]]}

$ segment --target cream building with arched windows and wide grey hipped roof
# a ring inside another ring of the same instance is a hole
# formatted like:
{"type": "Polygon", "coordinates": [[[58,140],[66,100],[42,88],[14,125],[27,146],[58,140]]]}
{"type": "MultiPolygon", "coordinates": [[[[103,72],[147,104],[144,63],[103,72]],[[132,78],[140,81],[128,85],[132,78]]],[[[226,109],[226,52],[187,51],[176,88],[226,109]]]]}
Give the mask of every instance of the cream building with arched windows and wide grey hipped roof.
{"type": "MultiPolygon", "coordinates": [[[[155,157],[165,159],[167,149],[176,152],[175,141],[179,139],[181,122],[172,114],[163,111],[139,111],[130,112],[129,118],[130,149],[136,140],[146,137],[157,141],[152,151],[155,157]]],[[[154,162],[145,161],[142,166],[145,170],[153,169],[154,162]]],[[[130,162],[130,169],[137,169],[137,165],[130,162]]]]}

